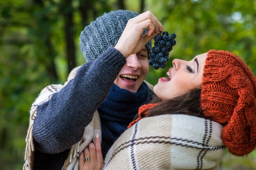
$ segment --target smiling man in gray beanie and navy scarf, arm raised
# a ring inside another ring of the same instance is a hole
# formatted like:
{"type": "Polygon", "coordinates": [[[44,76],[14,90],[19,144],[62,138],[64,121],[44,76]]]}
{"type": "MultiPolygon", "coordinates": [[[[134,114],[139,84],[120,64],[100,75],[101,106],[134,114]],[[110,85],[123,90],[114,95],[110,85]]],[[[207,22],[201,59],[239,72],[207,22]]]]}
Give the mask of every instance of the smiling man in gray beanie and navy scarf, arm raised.
{"type": "Polygon", "coordinates": [[[144,79],[150,40],[159,31],[162,24],[149,11],[112,11],[85,27],[80,46],[86,64],[65,85],[45,87],[31,107],[24,169],[78,169],[79,154],[101,131],[106,155],[150,99],[144,79]]]}

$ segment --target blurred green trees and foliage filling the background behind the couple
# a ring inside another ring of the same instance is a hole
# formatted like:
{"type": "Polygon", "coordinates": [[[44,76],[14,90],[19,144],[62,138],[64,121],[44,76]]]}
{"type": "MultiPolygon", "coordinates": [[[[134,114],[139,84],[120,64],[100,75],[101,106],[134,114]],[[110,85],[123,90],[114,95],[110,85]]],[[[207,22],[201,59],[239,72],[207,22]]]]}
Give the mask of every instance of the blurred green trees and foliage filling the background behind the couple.
{"type": "MultiPolygon", "coordinates": [[[[111,10],[140,13],[141,1],[0,0],[0,170],[21,169],[30,106],[43,87],[65,82],[68,44],[74,41],[75,65],[85,63],[79,47],[84,26],[111,10]],[[70,14],[72,37],[67,41],[70,14]]],[[[142,11],[148,10],[166,31],[177,34],[170,60],[190,60],[210,49],[228,50],[256,74],[255,0],[145,0],[142,11]]],[[[156,84],[171,66],[168,62],[165,69],[150,67],[146,80],[156,84]]],[[[226,152],[221,162],[223,170],[255,167],[256,151],[247,157],[226,152]]]]}

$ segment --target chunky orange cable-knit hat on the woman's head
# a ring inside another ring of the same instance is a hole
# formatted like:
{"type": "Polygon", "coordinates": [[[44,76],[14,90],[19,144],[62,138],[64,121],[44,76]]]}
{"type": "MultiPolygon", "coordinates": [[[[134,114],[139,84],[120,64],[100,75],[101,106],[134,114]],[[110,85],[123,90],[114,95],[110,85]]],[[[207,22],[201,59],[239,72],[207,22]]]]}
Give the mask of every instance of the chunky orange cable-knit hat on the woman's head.
{"type": "Polygon", "coordinates": [[[256,146],[256,78],[235,54],[209,50],[204,65],[202,112],[224,125],[229,152],[247,155],[256,146]]]}

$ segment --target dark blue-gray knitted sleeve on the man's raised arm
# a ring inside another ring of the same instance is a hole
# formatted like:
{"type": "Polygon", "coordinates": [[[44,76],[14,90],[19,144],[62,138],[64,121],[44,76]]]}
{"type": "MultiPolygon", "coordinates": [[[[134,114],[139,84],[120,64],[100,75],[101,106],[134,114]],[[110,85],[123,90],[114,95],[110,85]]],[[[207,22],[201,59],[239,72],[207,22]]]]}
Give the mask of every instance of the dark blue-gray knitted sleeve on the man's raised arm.
{"type": "Polygon", "coordinates": [[[110,47],[94,61],[82,65],[74,79],[39,105],[33,124],[36,149],[60,153],[79,142],[125,63],[126,58],[110,47]]]}

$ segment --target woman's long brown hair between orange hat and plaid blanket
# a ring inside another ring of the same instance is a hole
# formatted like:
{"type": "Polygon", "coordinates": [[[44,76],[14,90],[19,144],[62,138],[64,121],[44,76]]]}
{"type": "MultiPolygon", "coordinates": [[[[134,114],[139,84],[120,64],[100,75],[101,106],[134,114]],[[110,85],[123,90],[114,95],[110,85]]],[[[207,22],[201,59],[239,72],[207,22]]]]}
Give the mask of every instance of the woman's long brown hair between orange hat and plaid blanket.
{"type": "Polygon", "coordinates": [[[188,92],[172,99],[162,100],[155,97],[151,103],[158,103],[148,110],[145,117],[164,114],[186,114],[204,118],[200,106],[201,89],[191,89],[188,92]]]}

